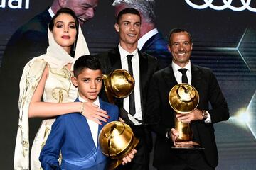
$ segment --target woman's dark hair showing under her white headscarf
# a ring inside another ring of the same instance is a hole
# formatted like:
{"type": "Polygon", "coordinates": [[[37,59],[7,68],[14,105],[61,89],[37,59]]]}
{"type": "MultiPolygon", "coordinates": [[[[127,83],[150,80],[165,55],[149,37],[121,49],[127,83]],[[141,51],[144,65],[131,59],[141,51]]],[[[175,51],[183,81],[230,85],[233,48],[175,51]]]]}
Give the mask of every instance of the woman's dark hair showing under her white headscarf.
{"type": "Polygon", "coordinates": [[[75,12],[73,10],[71,10],[70,8],[60,8],[57,11],[57,13],[50,20],[50,23],[49,23],[50,31],[53,31],[53,26],[54,26],[55,18],[57,18],[60,14],[63,14],[63,13],[69,14],[70,16],[72,16],[75,19],[75,28],[76,28],[77,33],[78,33],[79,21],[78,21],[77,16],[75,16],[75,12]]]}

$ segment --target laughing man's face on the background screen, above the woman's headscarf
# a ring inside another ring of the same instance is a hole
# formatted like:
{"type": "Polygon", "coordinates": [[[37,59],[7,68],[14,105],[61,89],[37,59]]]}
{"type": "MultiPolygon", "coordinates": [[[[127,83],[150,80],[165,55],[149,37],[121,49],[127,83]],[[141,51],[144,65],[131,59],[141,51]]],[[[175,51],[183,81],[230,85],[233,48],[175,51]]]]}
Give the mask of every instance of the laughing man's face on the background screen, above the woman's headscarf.
{"type": "Polygon", "coordinates": [[[72,9],[80,25],[93,18],[97,8],[98,0],[65,0],[62,7],[72,9]]]}

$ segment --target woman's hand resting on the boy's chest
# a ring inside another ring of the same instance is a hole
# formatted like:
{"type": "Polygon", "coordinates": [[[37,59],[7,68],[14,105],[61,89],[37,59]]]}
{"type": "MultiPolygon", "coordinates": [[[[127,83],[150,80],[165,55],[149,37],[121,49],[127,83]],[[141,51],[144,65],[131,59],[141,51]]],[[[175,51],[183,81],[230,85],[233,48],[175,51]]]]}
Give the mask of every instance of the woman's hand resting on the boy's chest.
{"type": "Polygon", "coordinates": [[[83,102],[82,105],[82,115],[99,125],[102,124],[100,120],[107,122],[107,119],[110,118],[106,111],[100,109],[99,106],[95,105],[94,103],[83,102]]]}

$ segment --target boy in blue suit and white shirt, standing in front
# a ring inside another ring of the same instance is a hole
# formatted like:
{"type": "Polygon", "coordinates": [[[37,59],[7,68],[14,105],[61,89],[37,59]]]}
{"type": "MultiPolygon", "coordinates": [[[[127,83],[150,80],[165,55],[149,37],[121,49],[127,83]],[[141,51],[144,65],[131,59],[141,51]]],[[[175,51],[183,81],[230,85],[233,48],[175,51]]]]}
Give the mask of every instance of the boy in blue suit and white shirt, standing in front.
{"type": "MultiPolygon", "coordinates": [[[[71,81],[78,87],[79,96],[76,101],[95,103],[107,111],[109,122],[118,120],[117,106],[98,97],[102,87],[102,70],[96,57],[80,57],[74,64],[74,77],[71,77],[71,81]]],[[[97,140],[105,124],[98,125],[80,113],[60,115],[53,123],[46,145],[41,151],[39,159],[43,169],[60,169],[60,150],[61,169],[106,169],[107,158],[102,154],[97,140]]],[[[123,161],[130,162],[135,152],[133,150],[123,161]]]]}

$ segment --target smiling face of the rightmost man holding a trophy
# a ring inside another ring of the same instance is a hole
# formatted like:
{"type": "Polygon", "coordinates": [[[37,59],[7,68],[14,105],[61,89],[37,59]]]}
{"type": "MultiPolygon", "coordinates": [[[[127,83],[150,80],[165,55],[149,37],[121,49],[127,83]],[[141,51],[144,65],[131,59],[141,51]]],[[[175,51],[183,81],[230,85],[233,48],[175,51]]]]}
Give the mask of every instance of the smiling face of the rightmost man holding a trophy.
{"type": "Polygon", "coordinates": [[[191,50],[193,46],[188,33],[173,33],[169,42],[168,50],[173,56],[173,62],[181,67],[185,67],[191,57],[191,50]]]}

